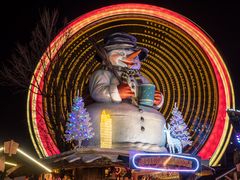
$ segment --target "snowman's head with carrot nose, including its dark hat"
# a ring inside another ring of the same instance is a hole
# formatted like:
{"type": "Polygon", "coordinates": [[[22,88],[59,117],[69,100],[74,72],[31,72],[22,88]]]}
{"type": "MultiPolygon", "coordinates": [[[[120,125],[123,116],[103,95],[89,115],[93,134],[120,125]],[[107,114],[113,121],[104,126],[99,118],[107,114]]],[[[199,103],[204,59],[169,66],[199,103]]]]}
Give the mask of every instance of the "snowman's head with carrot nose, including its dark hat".
{"type": "MultiPolygon", "coordinates": [[[[137,39],[133,35],[117,32],[104,38],[104,49],[114,66],[140,69],[141,61],[145,60],[148,50],[137,46],[137,39]]],[[[98,61],[104,63],[101,59],[98,61]]]]}

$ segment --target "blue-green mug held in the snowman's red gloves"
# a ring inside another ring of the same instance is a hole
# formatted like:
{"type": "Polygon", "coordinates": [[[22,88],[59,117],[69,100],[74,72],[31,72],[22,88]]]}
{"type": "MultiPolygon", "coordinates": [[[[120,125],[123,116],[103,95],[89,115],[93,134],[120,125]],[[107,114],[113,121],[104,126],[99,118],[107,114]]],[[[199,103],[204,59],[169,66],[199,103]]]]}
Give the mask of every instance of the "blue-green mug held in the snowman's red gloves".
{"type": "Polygon", "coordinates": [[[155,95],[154,84],[141,84],[138,86],[138,103],[143,106],[153,106],[155,95]]]}

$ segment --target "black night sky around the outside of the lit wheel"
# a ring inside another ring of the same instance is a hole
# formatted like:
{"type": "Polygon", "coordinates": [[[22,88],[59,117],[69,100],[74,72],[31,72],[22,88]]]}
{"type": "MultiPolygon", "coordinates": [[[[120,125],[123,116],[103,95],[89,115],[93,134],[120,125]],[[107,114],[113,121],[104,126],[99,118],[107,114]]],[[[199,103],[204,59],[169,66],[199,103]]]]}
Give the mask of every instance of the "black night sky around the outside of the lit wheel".
{"type": "MultiPolygon", "coordinates": [[[[158,0],[158,1],[4,1],[0,6],[0,61],[6,63],[17,42],[27,43],[39,18],[39,10],[57,8],[61,17],[72,21],[91,10],[117,3],[147,3],[175,11],[201,27],[215,42],[224,59],[235,89],[236,108],[240,108],[240,12],[237,1],[158,0]],[[101,3],[99,3],[101,2],[101,3]],[[224,3],[225,2],[225,3],[224,3]]],[[[34,153],[27,128],[26,96],[0,86],[0,146],[14,139],[20,147],[34,153]]]]}

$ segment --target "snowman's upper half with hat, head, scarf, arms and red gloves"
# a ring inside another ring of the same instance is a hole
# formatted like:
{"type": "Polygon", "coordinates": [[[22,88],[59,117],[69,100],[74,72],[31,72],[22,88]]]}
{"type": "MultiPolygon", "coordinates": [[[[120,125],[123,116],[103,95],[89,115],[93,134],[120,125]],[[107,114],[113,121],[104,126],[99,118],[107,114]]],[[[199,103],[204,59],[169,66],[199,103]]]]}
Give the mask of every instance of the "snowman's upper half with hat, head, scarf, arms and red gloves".
{"type": "MultiPolygon", "coordinates": [[[[104,61],[96,56],[103,68],[96,71],[89,81],[90,94],[95,101],[119,103],[133,100],[137,97],[137,87],[150,83],[140,73],[141,62],[146,59],[148,50],[138,47],[136,42],[134,36],[122,32],[104,39],[108,59],[104,61]]],[[[156,90],[154,108],[159,109],[163,99],[163,95],[156,90]]]]}

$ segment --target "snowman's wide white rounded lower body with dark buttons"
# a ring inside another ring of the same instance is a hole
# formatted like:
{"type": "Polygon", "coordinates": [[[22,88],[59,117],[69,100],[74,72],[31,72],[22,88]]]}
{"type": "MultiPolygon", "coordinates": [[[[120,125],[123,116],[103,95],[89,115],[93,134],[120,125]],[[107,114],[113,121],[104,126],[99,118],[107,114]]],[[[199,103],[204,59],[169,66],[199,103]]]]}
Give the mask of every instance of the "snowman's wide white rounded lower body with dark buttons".
{"type": "Polygon", "coordinates": [[[165,118],[154,108],[141,109],[129,103],[94,103],[87,110],[95,131],[91,145],[100,144],[100,117],[103,110],[112,119],[113,147],[126,146],[124,144],[133,147],[134,143],[165,145],[165,118]]]}

